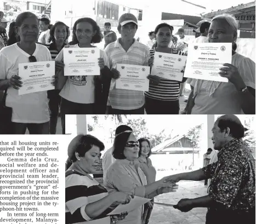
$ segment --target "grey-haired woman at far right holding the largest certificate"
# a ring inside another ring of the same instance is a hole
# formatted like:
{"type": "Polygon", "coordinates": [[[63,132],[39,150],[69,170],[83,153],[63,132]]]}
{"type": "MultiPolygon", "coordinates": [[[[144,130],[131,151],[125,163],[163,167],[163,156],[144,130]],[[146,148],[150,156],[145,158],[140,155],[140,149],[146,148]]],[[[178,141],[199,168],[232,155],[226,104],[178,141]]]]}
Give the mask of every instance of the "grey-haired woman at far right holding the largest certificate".
{"type": "MultiPolygon", "coordinates": [[[[209,42],[235,44],[237,29],[233,16],[215,16],[209,28],[209,42]]],[[[255,62],[232,50],[231,64],[223,64],[219,74],[229,82],[196,81],[194,100],[188,102],[188,111],[192,110],[191,114],[255,114],[255,62]]]]}

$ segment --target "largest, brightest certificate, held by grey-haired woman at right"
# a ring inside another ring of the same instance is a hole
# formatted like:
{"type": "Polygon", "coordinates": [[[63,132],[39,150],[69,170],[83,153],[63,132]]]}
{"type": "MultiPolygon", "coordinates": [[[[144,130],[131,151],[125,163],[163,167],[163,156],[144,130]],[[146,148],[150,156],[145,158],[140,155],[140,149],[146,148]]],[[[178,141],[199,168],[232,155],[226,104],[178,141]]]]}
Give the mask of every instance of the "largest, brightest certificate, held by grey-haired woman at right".
{"type": "Polygon", "coordinates": [[[231,64],[231,60],[231,43],[191,43],[184,77],[228,82],[219,75],[219,68],[225,63],[231,64]]]}

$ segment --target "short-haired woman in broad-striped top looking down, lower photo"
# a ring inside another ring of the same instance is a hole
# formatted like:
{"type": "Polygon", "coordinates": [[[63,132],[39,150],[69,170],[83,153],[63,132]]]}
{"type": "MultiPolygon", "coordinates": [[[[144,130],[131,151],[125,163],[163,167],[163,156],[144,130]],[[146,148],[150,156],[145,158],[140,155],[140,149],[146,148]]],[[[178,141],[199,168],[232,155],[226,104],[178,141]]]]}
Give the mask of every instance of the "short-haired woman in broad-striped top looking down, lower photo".
{"type": "MultiPolygon", "coordinates": [[[[66,224],[116,223],[123,220],[128,212],[107,216],[113,203],[127,204],[131,193],[115,192],[108,194],[89,174],[96,171],[101,153],[105,148],[103,142],[92,135],[78,135],[69,144],[67,154],[72,165],[66,171],[65,204],[66,224]],[[90,223],[90,222],[88,222],[90,223]]],[[[133,196],[132,196],[133,197],[133,196]]]]}

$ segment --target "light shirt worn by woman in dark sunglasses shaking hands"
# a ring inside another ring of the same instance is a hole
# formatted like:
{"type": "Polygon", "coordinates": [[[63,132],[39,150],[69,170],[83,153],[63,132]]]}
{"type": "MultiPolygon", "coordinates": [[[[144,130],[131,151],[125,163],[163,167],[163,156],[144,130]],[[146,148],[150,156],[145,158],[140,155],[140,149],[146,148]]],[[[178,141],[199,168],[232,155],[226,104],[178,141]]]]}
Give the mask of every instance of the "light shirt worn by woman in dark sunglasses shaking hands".
{"type": "MultiPolygon", "coordinates": [[[[132,192],[135,196],[145,197],[146,176],[143,171],[135,169],[134,162],[117,159],[107,170],[104,186],[109,193],[132,192]]],[[[143,224],[143,206],[130,211],[126,219],[118,221],[126,224],[143,224]]]]}

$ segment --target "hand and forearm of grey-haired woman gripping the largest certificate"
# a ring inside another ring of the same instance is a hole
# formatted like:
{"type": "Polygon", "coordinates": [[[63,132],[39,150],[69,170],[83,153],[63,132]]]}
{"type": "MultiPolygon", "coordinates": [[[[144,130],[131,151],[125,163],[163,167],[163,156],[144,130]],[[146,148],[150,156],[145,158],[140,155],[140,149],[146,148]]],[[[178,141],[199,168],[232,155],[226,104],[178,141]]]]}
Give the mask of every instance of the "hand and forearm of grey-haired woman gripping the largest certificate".
{"type": "Polygon", "coordinates": [[[243,82],[237,67],[228,63],[223,64],[223,66],[226,67],[220,68],[219,74],[221,77],[229,79],[229,82],[233,83],[238,91],[246,87],[246,84],[243,82]]]}

